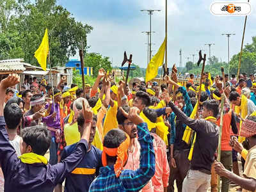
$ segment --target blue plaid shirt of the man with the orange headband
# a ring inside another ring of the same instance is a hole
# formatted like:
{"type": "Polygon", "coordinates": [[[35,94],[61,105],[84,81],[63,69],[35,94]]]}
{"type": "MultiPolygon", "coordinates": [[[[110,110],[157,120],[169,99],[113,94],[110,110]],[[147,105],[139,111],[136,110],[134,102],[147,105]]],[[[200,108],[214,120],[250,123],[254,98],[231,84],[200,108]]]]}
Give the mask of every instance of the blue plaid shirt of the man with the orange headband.
{"type": "Polygon", "coordinates": [[[153,138],[150,136],[146,123],[137,125],[140,143],[140,168],[123,170],[117,178],[113,166],[100,168],[99,176],[93,180],[89,191],[140,191],[155,173],[155,152],[153,138]]]}

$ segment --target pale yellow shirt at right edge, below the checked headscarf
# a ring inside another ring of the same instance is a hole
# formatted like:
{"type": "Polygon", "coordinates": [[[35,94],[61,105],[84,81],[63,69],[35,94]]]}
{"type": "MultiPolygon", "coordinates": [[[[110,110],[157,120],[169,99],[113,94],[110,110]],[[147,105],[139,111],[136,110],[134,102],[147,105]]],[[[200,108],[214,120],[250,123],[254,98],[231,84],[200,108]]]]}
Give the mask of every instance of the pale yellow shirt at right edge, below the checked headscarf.
{"type": "MultiPolygon", "coordinates": [[[[252,147],[246,156],[243,175],[248,178],[256,179],[256,146],[252,147]]],[[[243,192],[249,191],[243,189],[243,192]]]]}

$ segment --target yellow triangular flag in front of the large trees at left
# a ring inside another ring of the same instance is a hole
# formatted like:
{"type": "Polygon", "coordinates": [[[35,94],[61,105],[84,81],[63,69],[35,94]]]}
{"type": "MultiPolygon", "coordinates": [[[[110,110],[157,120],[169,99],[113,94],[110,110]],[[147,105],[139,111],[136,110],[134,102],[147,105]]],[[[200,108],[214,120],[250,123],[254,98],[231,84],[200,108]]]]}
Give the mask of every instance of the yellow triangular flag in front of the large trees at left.
{"type": "Polygon", "coordinates": [[[43,70],[46,70],[46,60],[49,53],[48,30],[45,29],[44,37],[40,47],[35,52],[35,58],[41,65],[43,70]]]}

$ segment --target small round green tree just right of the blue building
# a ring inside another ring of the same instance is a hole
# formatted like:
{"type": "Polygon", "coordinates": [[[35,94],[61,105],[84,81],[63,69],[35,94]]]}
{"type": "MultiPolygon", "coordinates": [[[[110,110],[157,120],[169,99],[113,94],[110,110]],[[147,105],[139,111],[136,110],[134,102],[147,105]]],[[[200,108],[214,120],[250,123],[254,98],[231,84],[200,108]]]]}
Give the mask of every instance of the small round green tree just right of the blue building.
{"type": "Polygon", "coordinates": [[[98,76],[98,72],[100,68],[104,68],[104,70],[111,72],[111,61],[109,61],[109,57],[102,57],[101,54],[91,52],[86,53],[84,58],[84,66],[85,67],[93,67],[93,77],[98,76]]]}

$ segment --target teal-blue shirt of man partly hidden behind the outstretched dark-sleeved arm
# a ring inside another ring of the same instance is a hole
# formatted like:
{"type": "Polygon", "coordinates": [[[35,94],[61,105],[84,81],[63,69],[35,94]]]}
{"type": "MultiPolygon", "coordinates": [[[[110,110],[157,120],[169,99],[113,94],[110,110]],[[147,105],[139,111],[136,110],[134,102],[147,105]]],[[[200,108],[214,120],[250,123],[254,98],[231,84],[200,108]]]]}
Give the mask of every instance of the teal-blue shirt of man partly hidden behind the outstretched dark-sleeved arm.
{"type": "MultiPolygon", "coordinates": [[[[178,91],[182,93],[184,98],[185,106],[182,109],[187,116],[190,116],[193,111],[193,106],[191,104],[188,92],[184,86],[180,86],[178,91]]],[[[169,123],[171,125],[171,136],[170,136],[170,144],[174,144],[174,149],[186,149],[189,148],[184,141],[182,141],[182,137],[184,131],[186,129],[186,125],[182,124],[182,121],[179,118],[176,118],[174,113],[171,114],[169,123]]]]}

